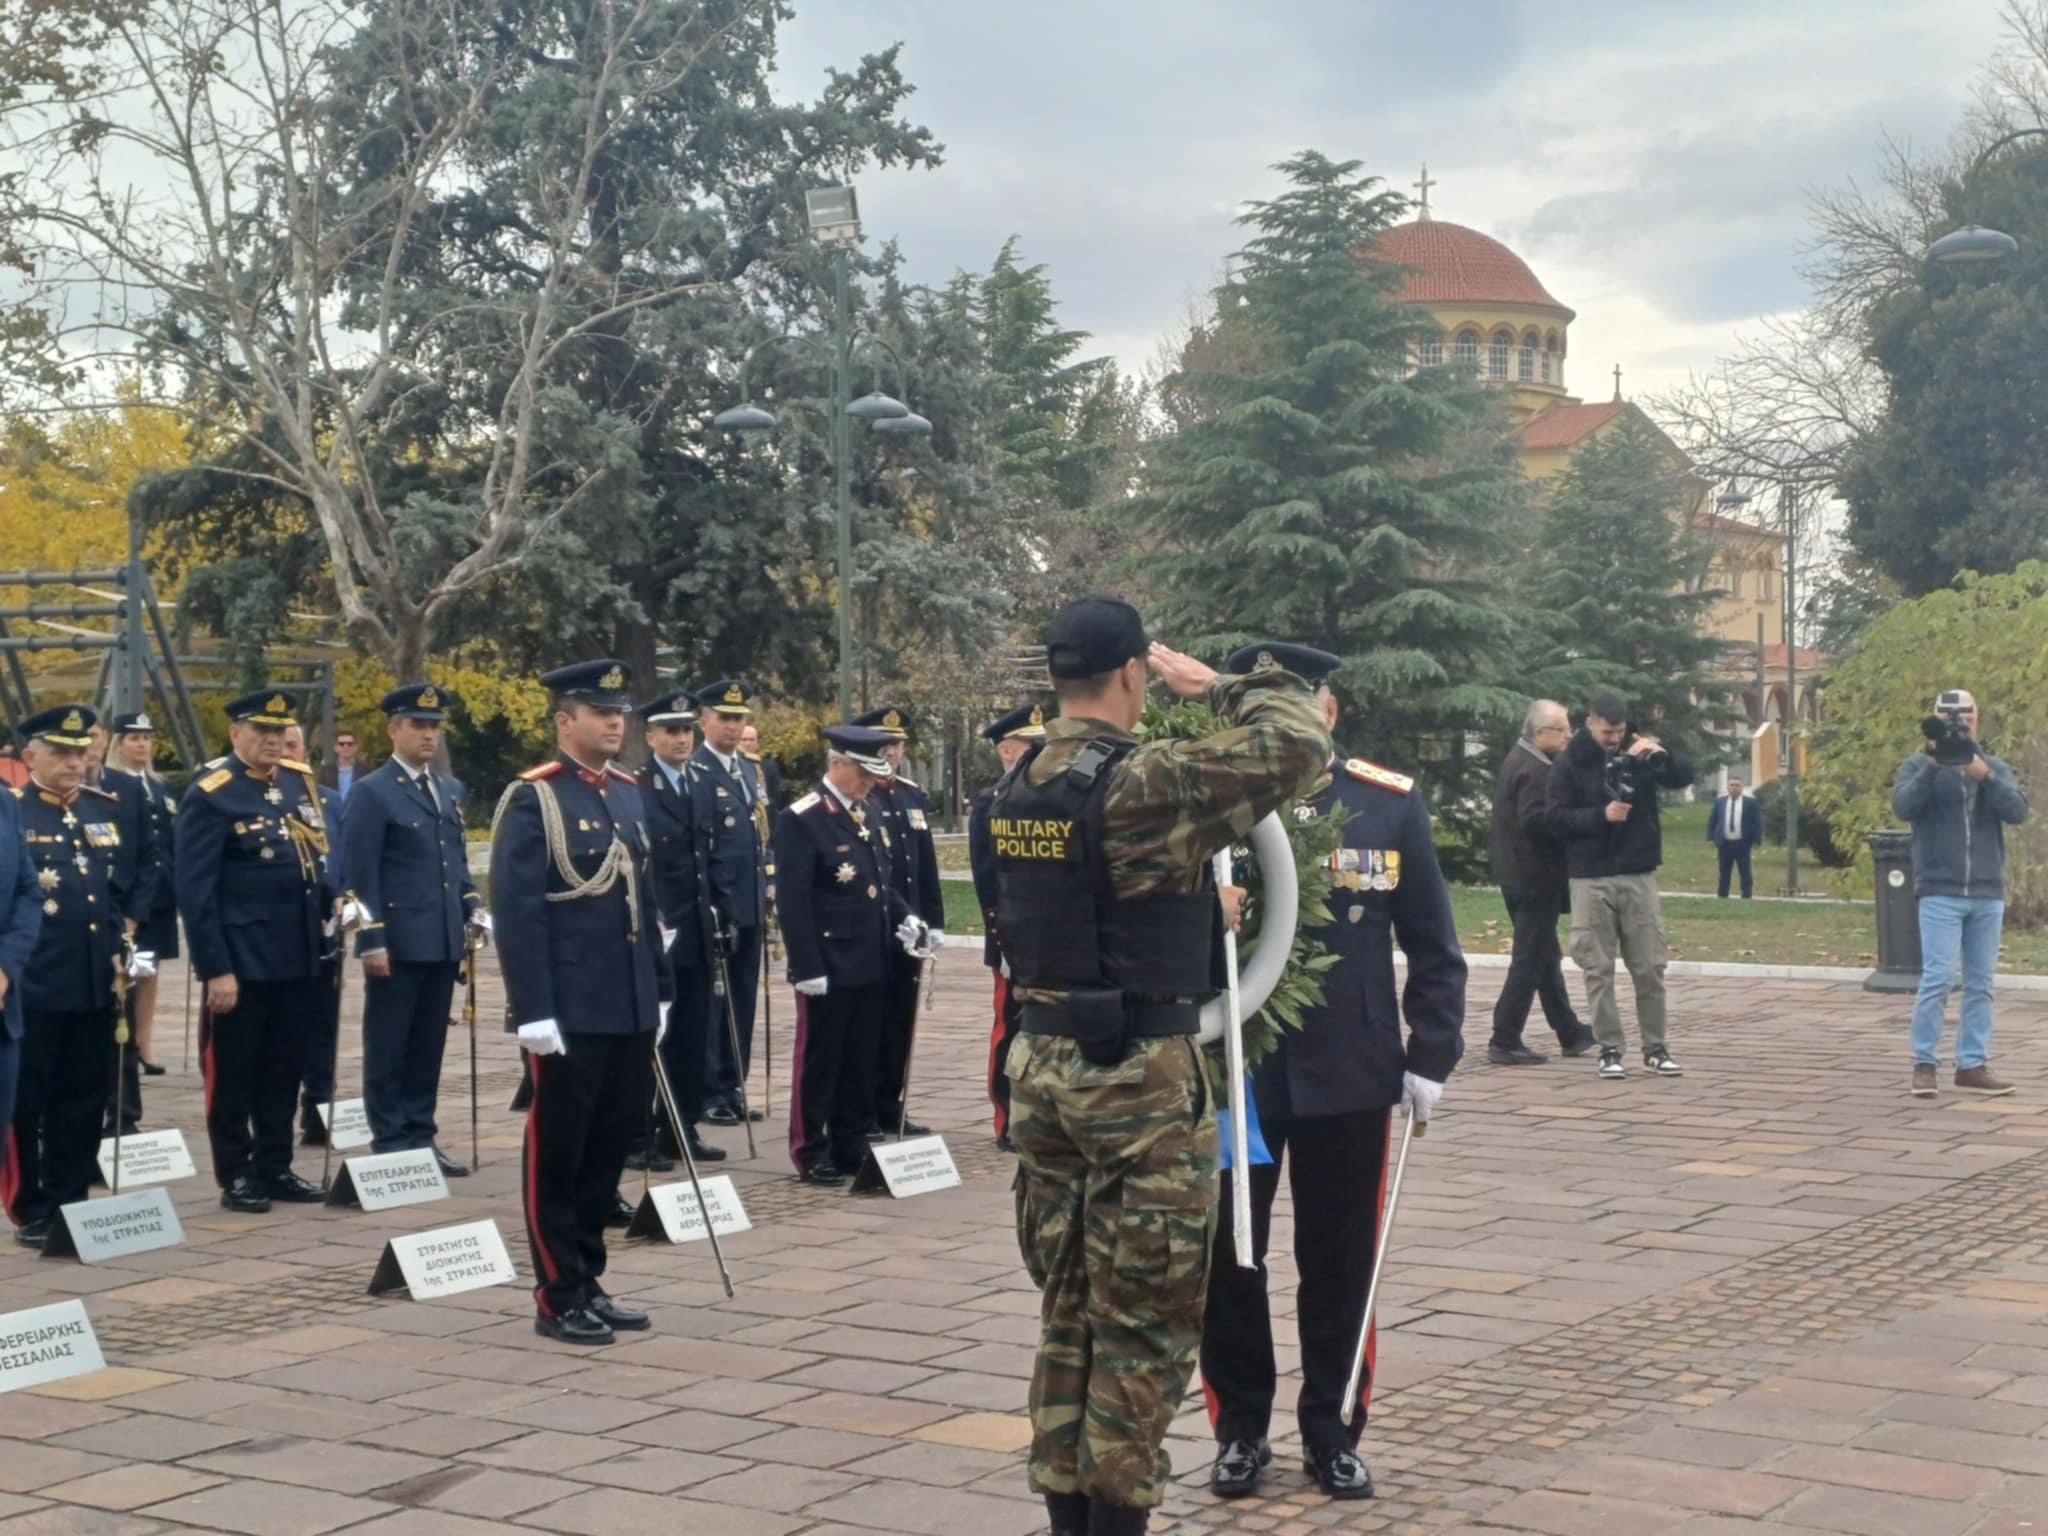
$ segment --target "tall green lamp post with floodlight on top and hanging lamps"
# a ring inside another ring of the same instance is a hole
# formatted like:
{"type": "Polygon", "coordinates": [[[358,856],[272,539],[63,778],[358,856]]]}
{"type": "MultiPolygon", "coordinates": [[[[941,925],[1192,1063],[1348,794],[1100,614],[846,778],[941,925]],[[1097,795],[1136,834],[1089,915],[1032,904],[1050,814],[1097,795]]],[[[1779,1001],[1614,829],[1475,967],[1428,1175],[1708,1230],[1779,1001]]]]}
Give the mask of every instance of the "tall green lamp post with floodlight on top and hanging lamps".
{"type": "MultiPolygon", "coordinates": [[[[834,477],[834,518],[838,535],[838,590],[840,590],[840,719],[854,717],[854,492],[852,492],[852,422],[872,422],[877,432],[893,438],[926,436],[932,424],[909,410],[901,399],[870,389],[854,399],[854,352],[850,289],[850,252],[860,242],[860,207],[852,186],[813,186],[803,195],[805,221],[811,238],[831,248],[831,477],[834,477]]],[[[739,403],[713,418],[715,426],[727,432],[766,432],[774,426],[774,414],[754,403],[748,393],[748,369],[754,354],[764,346],[780,342],[803,344],[795,336],[778,336],[748,350],[739,362],[739,403]]],[[[895,354],[879,336],[864,336],[860,342],[883,348],[895,362],[897,389],[903,387],[903,358],[895,354]]]]}

